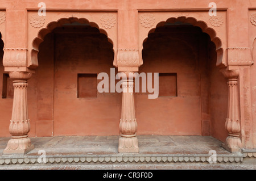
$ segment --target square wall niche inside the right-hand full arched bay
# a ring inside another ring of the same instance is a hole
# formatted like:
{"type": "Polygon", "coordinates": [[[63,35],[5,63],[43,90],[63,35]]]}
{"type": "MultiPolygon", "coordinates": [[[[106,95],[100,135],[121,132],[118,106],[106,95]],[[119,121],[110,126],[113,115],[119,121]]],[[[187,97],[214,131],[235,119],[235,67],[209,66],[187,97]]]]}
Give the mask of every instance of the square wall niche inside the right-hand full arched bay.
{"type": "Polygon", "coordinates": [[[159,73],[159,96],[177,96],[177,73],[159,73]]]}

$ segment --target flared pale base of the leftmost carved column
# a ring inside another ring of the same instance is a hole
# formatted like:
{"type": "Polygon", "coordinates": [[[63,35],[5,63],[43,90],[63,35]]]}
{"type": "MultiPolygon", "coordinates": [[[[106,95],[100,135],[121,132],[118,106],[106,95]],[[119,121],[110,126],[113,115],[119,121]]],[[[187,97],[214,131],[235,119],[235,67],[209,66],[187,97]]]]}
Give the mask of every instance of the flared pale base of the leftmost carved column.
{"type": "Polygon", "coordinates": [[[11,138],[6,149],[3,150],[3,154],[26,154],[34,148],[35,146],[31,144],[30,138],[11,138]]]}

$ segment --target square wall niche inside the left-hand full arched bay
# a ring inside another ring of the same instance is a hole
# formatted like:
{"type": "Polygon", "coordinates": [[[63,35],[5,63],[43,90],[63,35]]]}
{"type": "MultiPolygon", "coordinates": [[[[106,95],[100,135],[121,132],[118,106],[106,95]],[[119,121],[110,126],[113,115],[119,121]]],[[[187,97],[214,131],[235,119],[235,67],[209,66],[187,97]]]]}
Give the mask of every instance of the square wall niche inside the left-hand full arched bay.
{"type": "Polygon", "coordinates": [[[97,74],[77,74],[77,98],[97,98],[97,74]]]}

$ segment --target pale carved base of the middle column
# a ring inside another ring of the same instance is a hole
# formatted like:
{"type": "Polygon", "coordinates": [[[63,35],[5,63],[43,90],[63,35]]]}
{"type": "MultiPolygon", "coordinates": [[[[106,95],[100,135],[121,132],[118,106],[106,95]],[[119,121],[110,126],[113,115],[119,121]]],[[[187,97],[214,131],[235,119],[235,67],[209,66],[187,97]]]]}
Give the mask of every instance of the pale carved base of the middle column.
{"type": "Polygon", "coordinates": [[[138,138],[119,137],[118,153],[139,153],[138,138]]]}

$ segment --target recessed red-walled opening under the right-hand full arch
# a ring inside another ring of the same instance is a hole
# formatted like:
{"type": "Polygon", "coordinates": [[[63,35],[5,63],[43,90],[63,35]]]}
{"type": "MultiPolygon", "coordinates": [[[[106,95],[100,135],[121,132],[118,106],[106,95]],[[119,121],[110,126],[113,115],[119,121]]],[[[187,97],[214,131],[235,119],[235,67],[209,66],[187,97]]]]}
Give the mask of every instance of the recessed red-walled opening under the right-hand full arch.
{"type": "Polygon", "coordinates": [[[225,141],[228,87],[216,66],[221,41],[192,19],[159,23],[143,43],[140,72],[159,73],[159,97],[136,95],[138,134],[202,135],[225,141]],[[216,40],[216,41],[214,41],[216,40]]]}

